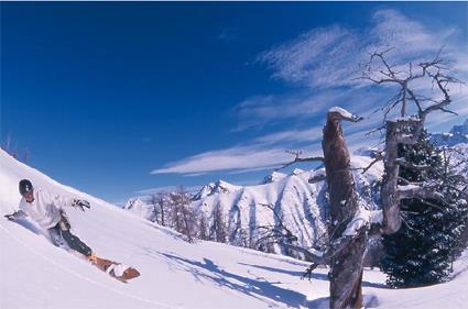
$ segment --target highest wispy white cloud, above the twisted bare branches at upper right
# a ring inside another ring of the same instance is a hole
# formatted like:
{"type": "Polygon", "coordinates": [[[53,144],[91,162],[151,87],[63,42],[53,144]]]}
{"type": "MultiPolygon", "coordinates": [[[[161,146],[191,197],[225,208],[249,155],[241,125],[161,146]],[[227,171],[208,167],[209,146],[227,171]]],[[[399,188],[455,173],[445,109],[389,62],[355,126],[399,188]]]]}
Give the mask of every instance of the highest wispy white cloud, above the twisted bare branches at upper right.
{"type": "MultiPolygon", "coordinates": [[[[368,60],[368,52],[395,47],[389,60],[395,65],[417,62],[434,55],[442,46],[453,46],[454,27],[427,29],[394,10],[377,11],[364,30],[349,30],[340,25],[313,29],[285,44],[259,55],[273,78],[311,88],[361,87],[356,79],[359,64],[368,60]]],[[[465,55],[466,57],[466,55],[465,55]]]]}

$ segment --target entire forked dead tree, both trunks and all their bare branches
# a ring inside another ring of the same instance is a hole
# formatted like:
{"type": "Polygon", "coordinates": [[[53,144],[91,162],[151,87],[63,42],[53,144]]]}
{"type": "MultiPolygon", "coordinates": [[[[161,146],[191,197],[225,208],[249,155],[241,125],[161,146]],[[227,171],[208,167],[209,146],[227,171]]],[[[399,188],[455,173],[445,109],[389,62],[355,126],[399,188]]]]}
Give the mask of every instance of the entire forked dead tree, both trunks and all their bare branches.
{"type": "MultiPolygon", "coordinates": [[[[437,199],[442,197],[434,190],[436,184],[402,183],[399,178],[401,165],[407,165],[398,156],[400,144],[415,144],[424,128],[427,115],[434,111],[455,113],[447,109],[451,99],[449,86],[461,84],[448,75],[447,65],[440,59],[439,53],[431,62],[410,64],[407,70],[402,71],[389,65],[384,54],[373,53],[366,66],[362,78],[373,84],[393,84],[399,87],[398,95],[384,107],[385,148],[377,155],[363,172],[368,170],[376,162],[383,159],[384,176],[381,187],[382,211],[372,211],[368,216],[359,217],[362,209],[359,207],[353,183],[350,157],[342,135],[340,121],[359,121],[349,112],[333,108],[327,114],[327,124],[324,128],[323,151],[324,157],[301,158],[296,153],[293,162],[324,161],[326,175],[316,177],[311,181],[320,181],[324,178],[328,185],[329,209],[331,224],[328,229],[328,245],[322,250],[304,249],[291,243],[284,246],[303,253],[313,264],[307,268],[309,274],[318,264],[330,265],[330,308],[361,308],[362,307],[362,263],[368,234],[381,232],[391,234],[401,227],[400,201],[402,199],[421,198],[437,199]],[[374,68],[376,60],[380,66],[374,68]],[[415,69],[417,68],[417,70],[415,69]],[[440,98],[429,98],[417,93],[413,81],[427,79],[440,92],[440,98]],[[400,118],[390,119],[390,112],[400,108],[400,118]],[[407,117],[409,111],[415,114],[407,117]]],[[[281,168],[283,168],[281,167],[281,168]]],[[[413,166],[413,168],[427,168],[413,166]]]]}

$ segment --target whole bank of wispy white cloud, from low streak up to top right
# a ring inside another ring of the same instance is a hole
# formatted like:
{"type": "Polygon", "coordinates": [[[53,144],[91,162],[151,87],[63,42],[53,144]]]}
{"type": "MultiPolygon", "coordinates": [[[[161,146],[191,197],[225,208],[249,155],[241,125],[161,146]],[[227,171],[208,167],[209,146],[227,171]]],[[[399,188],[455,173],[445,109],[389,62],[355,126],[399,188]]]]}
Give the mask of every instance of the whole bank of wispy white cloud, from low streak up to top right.
{"type": "MultiPolygon", "coordinates": [[[[392,88],[374,91],[367,87],[367,81],[356,78],[360,76],[359,64],[368,62],[369,52],[394,47],[388,59],[398,67],[411,60],[427,60],[442,46],[445,46],[444,56],[457,68],[459,76],[468,78],[467,43],[460,45],[457,30],[451,26],[428,29],[398,11],[380,10],[371,16],[368,29],[352,30],[339,24],[313,29],[257,57],[258,63],[269,67],[272,78],[292,84],[296,91],[252,96],[231,110],[239,118],[233,132],[264,129],[280,122],[286,123],[282,126],[286,130],[253,137],[241,145],[189,156],[154,169],[152,174],[247,173],[291,161],[286,150],[307,148],[315,152],[311,155],[320,154],[319,122],[325,122],[326,111],[333,106],[364,117],[360,123],[344,124],[351,150],[378,145],[381,136],[378,133],[366,135],[366,132],[382,123],[382,113],[374,111],[384,106],[394,91],[392,88]]],[[[431,86],[417,87],[423,92],[434,91],[431,86]]],[[[456,90],[453,110],[466,115],[468,89],[456,90]]],[[[429,129],[449,122],[449,117],[442,114],[429,120],[429,129]]]]}

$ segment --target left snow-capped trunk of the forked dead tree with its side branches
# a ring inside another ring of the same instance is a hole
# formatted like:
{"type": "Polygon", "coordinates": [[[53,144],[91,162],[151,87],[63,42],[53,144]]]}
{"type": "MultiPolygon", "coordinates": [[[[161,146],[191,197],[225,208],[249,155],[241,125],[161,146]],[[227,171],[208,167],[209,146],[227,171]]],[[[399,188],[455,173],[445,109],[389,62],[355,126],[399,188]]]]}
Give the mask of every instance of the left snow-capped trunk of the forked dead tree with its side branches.
{"type": "Polygon", "coordinates": [[[358,122],[360,120],[344,109],[330,109],[322,143],[324,157],[298,158],[296,154],[294,159],[294,162],[323,159],[325,163],[326,176],[311,179],[311,181],[323,179],[327,181],[331,221],[328,228],[329,241],[323,251],[307,250],[287,242],[283,242],[282,245],[303,253],[308,261],[313,262],[305,274],[309,275],[319,264],[330,265],[330,308],[362,307],[363,255],[369,223],[372,220],[357,218],[360,207],[350,167],[350,156],[341,130],[341,121],[358,122]]]}

